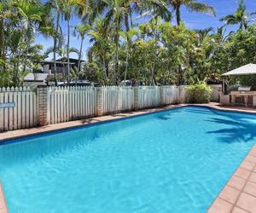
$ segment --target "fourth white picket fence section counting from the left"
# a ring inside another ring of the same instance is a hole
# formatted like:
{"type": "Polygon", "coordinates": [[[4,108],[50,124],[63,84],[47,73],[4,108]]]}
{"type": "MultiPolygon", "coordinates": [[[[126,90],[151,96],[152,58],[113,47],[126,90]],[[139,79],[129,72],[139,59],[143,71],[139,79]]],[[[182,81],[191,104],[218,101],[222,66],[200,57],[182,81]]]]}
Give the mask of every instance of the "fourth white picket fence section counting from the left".
{"type": "Polygon", "coordinates": [[[138,89],[139,109],[160,106],[160,87],[140,86],[138,89]]]}

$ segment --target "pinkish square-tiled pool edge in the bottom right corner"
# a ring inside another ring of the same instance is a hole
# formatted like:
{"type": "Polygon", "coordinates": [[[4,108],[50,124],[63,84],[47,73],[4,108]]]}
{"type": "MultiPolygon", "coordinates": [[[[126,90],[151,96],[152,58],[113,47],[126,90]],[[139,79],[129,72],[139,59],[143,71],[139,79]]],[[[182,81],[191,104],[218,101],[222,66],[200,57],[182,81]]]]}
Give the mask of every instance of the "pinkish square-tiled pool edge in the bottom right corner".
{"type": "Polygon", "coordinates": [[[256,144],[207,210],[208,213],[256,212],[256,144]]]}

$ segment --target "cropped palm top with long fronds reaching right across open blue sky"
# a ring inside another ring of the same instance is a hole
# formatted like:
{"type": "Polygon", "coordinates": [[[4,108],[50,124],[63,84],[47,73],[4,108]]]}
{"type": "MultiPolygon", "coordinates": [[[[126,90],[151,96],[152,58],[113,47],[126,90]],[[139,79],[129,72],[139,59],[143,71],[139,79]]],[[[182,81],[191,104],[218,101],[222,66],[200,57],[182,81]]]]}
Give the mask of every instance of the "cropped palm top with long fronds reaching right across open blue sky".
{"type": "Polygon", "coordinates": [[[176,13],[177,26],[181,24],[180,9],[182,6],[189,9],[190,12],[216,15],[214,8],[207,3],[199,3],[197,0],[166,0],[176,13]]]}

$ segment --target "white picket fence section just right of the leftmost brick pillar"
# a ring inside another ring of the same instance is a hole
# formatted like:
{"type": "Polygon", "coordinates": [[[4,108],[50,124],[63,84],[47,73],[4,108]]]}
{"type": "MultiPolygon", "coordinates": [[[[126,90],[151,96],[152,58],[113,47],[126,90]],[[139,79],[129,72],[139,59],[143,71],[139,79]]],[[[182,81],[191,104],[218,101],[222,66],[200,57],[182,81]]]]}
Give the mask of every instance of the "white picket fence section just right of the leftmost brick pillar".
{"type": "Polygon", "coordinates": [[[58,124],[96,116],[94,87],[50,87],[48,89],[48,123],[58,124]]]}

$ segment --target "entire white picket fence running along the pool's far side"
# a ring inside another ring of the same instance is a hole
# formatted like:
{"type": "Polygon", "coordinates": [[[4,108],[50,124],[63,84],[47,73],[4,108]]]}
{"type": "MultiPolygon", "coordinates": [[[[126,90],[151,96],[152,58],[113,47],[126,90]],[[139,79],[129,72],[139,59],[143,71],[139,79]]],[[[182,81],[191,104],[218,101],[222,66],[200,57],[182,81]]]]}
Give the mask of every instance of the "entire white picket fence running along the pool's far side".
{"type": "MultiPolygon", "coordinates": [[[[47,95],[44,96],[47,106],[38,107],[37,89],[0,89],[0,132],[37,126],[39,120],[41,121],[39,116],[44,113],[47,114],[47,124],[58,124],[96,117],[101,114],[98,112],[99,108],[102,114],[113,114],[182,103],[185,101],[185,91],[184,86],[103,86],[101,89],[79,86],[49,87],[46,93],[40,93],[47,95]],[[97,101],[98,95],[102,98],[97,101]],[[45,112],[38,112],[39,108],[45,112]]],[[[40,100],[43,96],[40,96],[40,100]]]]}

